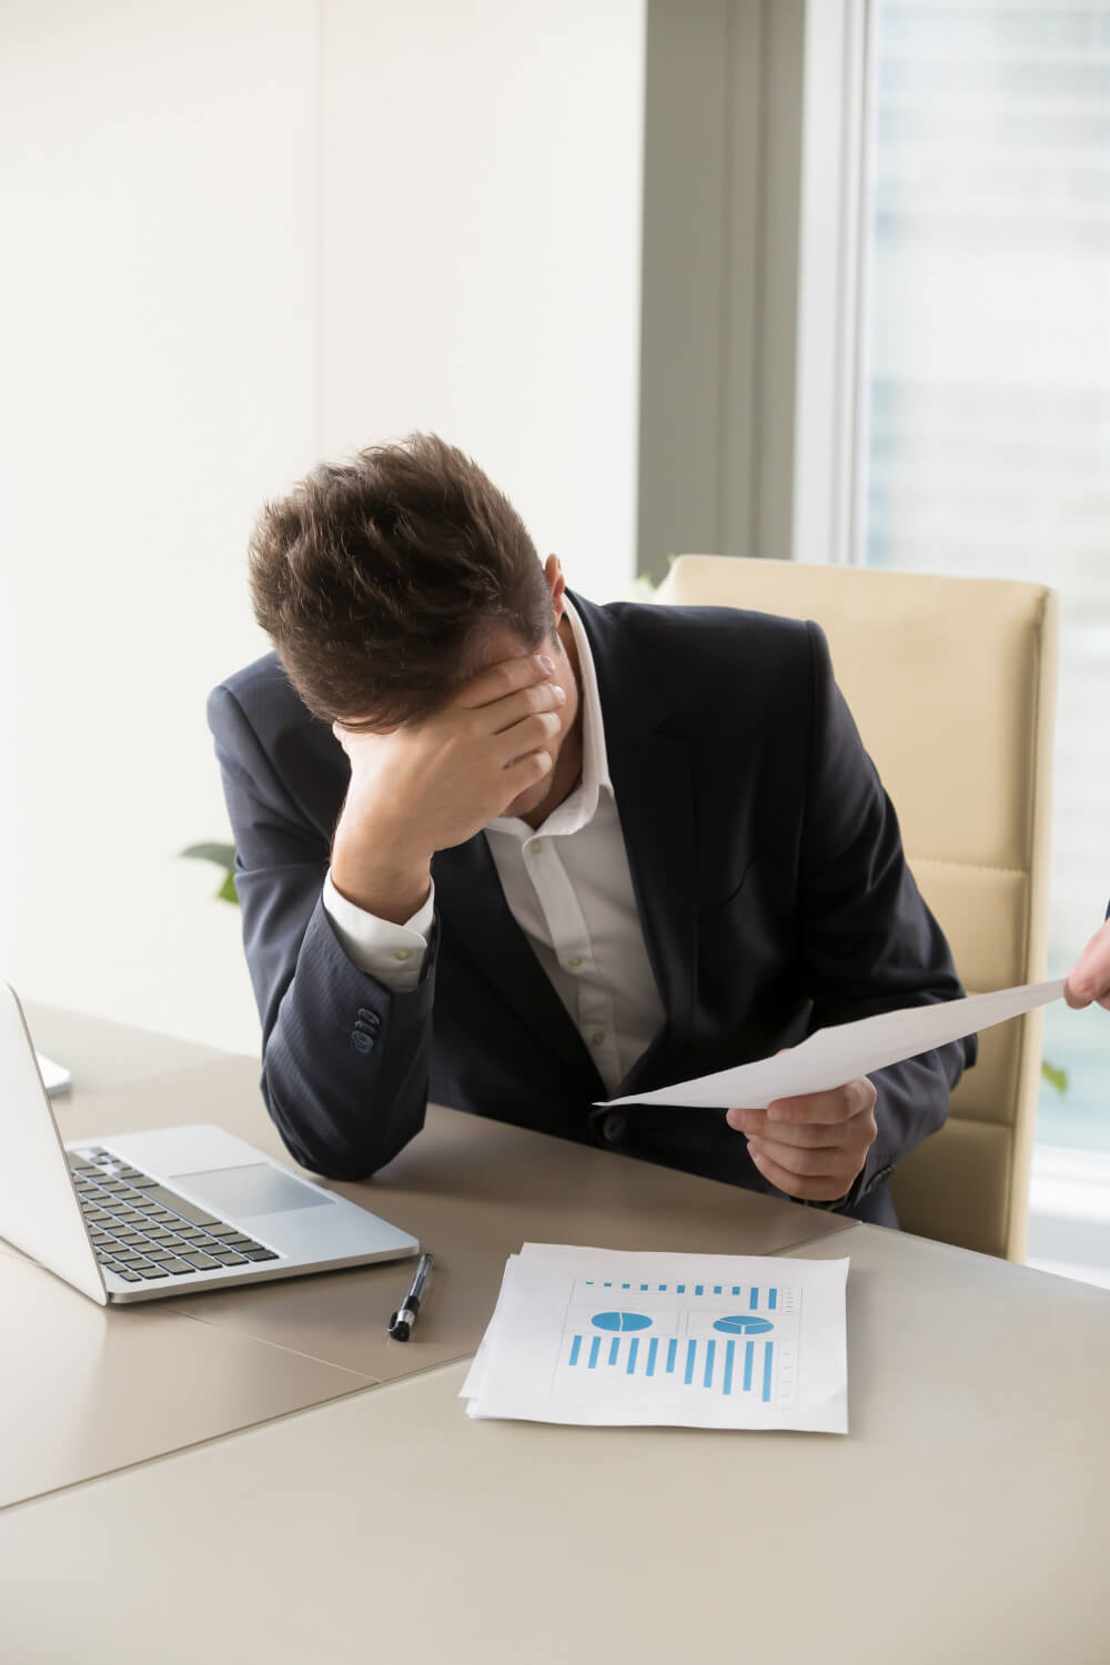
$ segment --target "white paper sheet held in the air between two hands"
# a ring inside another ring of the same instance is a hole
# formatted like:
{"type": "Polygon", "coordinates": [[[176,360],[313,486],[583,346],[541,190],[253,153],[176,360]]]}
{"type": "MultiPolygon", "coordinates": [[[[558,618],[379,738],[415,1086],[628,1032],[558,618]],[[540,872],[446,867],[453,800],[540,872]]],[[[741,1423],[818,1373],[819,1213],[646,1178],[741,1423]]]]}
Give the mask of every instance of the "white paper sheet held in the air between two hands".
{"type": "Polygon", "coordinates": [[[854,1024],[817,1029],[799,1046],[756,1064],[739,1064],[714,1076],[697,1076],[671,1087],[656,1087],[654,1092],[604,1102],[689,1104],[722,1111],[736,1104],[766,1111],[772,1099],[842,1087],[857,1076],[870,1076],[887,1064],[900,1064],[902,1059],[1002,1024],[1007,1017],[1032,1012],[1062,994],[1063,977],[1055,982],[1028,982],[1020,989],[999,989],[995,994],[969,994],[962,1001],[905,1006],[897,1012],[860,1017],[854,1024]]]}

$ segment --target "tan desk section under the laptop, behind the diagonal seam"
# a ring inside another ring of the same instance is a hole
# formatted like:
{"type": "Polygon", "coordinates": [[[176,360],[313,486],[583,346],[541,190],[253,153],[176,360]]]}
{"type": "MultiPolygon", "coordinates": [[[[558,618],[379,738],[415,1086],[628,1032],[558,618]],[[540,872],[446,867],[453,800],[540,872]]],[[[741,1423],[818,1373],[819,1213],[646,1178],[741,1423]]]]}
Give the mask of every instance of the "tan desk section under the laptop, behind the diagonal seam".
{"type": "MultiPolygon", "coordinates": [[[[63,1014],[40,1024],[35,1007],[28,1017],[43,1051],[40,1029],[73,1069],[73,1096],[55,1101],[65,1139],[213,1121],[290,1161],[263,1109],[255,1059],[198,1049],[195,1062],[155,1076],[156,1037],[98,1029],[92,1019],[70,1032],[63,1014]],[[83,1091],[90,1077],[105,1091],[83,1091]]],[[[168,1046],[175,1064],[181,1046],[168,1046]]],[[[438,1107],[379,1177],[334,1189],[394,1219],[436,1255],[408,1344],[386,1337],[386,1320],[409,1285],[411,1260],[103,1309],[0,1242],[0,1425],[23,1430],[0,1445],[0,1505],[466,1359],[504,1262],[524,1239],[776,1254],[849,1225],[438,1107]]]]}

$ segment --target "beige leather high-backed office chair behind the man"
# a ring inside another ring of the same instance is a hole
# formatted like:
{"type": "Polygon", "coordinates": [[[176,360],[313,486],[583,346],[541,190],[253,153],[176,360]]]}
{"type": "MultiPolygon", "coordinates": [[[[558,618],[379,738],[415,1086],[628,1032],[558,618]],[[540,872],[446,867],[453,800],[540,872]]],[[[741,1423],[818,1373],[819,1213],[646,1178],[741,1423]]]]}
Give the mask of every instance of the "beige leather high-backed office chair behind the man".
{"type": "MultiPolygon", "coordinates": [[[[684,554],[659,599],[815,619],[969,994],[1045,974],[1057,598],[1038,584],[684,554]]],[[[1020,1259],[1040,1012],[980,1037],[899,1164],[905,1230],[1020,1259]]]]}

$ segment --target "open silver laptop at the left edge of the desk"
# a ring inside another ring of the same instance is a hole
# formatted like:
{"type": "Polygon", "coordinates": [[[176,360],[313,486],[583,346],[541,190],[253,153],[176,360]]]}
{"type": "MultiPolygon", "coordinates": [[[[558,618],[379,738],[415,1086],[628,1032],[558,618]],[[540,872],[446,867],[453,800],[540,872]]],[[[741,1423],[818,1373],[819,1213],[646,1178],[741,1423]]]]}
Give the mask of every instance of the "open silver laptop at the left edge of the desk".
{"type": "Polygon", "coordinates": [[[416,1237],[221,1127],[63,1144],[7,982],[0,1122],[0,1237],[102,1305],[419,1252],[416,1237]]]}

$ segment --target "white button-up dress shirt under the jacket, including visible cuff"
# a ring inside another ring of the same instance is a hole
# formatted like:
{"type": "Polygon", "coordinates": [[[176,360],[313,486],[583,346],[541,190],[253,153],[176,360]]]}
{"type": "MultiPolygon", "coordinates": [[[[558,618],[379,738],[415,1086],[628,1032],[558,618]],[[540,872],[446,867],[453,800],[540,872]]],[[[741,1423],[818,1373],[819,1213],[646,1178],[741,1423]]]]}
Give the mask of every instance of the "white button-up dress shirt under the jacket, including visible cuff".
{"type": "MultiPolygon", "coordinates": [[[[566,603],[577,648],[582,778],[534,831],[498,816],[486,841],[516,924],[616,1092],[664,1021],[644,947],[624,834],[609,779],[597,676],[586,633],[566,603]]],[[[423,971],[434,919],[434,886],[406,924],[391,924],[339,896],[331,874],[323,902],[348,959],[406,992],[423,971]]]]}

